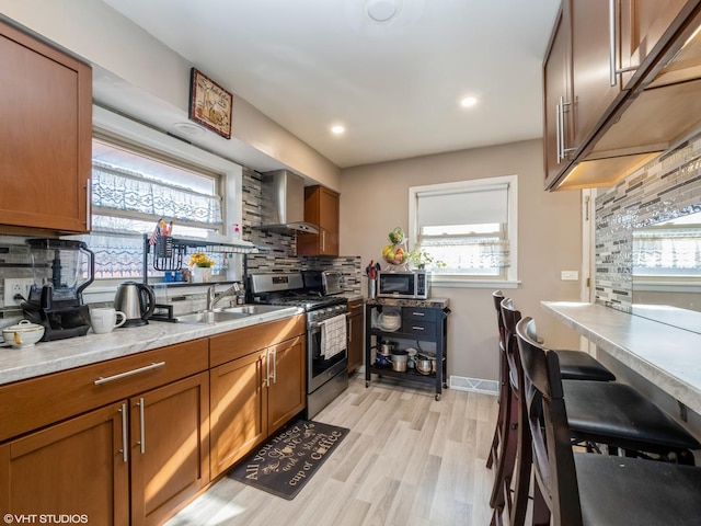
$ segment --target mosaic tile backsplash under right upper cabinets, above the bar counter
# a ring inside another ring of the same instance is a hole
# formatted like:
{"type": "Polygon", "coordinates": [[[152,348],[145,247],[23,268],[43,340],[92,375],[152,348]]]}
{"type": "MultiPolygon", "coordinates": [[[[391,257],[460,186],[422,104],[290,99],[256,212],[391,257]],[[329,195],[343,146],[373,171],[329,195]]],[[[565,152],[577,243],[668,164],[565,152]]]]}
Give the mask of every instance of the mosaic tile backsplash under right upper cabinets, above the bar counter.
{"type": "Polygon", "coordinates": [[[596,198],[596,300],[632,308],[633,230],[701,211],[701,134],[596,198]]]}

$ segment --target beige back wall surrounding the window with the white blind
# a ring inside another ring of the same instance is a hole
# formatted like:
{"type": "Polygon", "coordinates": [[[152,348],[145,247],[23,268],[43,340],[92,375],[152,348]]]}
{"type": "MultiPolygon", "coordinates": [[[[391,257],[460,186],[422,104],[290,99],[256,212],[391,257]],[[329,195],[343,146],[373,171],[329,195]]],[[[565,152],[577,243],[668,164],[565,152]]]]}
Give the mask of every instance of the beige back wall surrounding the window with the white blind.
{"type": "MultiPolygon", "coordinates": [[[[517,289],[504,289],[524,316],[538,320],[539,333],[555,347],[578,348],[577,335],[545,315],[541,300],[578,300],[579,283],[562,282],[561,270],[579,270],[579,192],[543,191],[542,142],[463,150],[342,171],[341,253],[359,254],[363,267],[381,259],[387,235],[407,230],[409,187],[517,174],[517,289]]],[[[365,283],[365,281],[364,281],[365,283]]],[[[450,299],[448,374],[498,378],[496,312],[492,288],[434,288],[450,299]]]]}

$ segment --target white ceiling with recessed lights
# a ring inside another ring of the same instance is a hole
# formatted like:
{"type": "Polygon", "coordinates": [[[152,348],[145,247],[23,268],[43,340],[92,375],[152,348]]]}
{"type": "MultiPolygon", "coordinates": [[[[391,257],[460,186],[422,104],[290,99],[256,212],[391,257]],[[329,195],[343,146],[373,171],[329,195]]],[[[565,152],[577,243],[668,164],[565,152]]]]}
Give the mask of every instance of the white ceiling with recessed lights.
{"type": "Polygon", "coordinates": [[[560,0],[105,3],[340,168],[542,135],[560,0]]]}

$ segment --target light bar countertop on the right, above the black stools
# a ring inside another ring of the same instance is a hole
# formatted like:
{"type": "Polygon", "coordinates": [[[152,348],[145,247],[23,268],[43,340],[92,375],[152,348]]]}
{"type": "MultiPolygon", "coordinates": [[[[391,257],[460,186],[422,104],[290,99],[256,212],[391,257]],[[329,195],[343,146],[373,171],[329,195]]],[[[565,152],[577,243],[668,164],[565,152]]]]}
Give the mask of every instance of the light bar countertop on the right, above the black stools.
{"type": "Polygon", "coordinates": [[[542,308],[692,411],[701,414],[701,334],[599,304],[542,308]]]}

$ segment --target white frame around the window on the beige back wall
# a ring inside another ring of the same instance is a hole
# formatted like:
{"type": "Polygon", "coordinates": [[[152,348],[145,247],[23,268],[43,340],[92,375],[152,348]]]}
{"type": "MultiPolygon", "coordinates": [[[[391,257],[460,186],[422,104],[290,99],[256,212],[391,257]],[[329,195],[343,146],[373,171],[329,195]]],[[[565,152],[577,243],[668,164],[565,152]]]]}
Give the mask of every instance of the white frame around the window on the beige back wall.
{"type": "Polygon", "coordinates": [[[432,286],[453,288],[516,288],[518,279],[518,175],[455,181],[449,183],[410,186],[409,188],[409,243],[410,250],[417,244],[418,214],[417,205],[422,193],[428,192],[479,192],[497,184],[507,185],[507,238],[509,244],[509,266],[506,277],[475,277],[460,274],[430,274],[432,286]]]}

